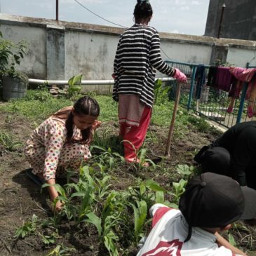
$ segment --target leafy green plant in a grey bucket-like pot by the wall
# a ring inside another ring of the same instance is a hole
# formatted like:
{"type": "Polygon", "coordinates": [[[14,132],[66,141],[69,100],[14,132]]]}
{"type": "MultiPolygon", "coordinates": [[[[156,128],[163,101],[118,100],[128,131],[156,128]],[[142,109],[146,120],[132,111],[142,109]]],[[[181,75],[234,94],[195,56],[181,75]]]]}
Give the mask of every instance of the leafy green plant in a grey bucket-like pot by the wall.
{"type": "Polygon", "coordinates": [[[27,53],[27,43],[13,43],[5,40],[0,32],[0,84],[3,100],[24,97],[27,91],[28,77],[16,69],[27,53]]]}

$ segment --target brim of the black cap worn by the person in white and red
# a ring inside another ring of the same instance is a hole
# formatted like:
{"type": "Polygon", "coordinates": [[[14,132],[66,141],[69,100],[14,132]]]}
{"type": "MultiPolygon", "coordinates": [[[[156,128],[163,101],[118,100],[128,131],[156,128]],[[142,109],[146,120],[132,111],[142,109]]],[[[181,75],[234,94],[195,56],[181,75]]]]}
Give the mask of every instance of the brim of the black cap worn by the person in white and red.
{"type": "Polygon", "coordinates": [[[245,209],[239,220],[251,220],[256,217],[256,190],[250,187],[241,187],[245,198],[245,209]]]}

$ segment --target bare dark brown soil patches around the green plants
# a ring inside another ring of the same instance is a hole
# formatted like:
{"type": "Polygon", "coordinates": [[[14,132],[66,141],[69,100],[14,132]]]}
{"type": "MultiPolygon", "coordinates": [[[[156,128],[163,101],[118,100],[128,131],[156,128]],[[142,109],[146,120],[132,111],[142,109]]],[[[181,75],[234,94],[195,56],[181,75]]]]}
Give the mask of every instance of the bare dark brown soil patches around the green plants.
{"type": "MultiPolygon", "coordinates": [[[[13,135],[13,140],[23,144],[34,129],[35,124],[27,119],[16,116],[15,114],[0,113],[0,131],[13,135]]],[[[105,129],[117,133],[117,126],[113,122],[103,123],[99,133],[105,129]]],[[[163,130],[157,126],[151,126],[149,133],[156,135],[157,140],[151,142],[146,140],[146,147],[149,151],[149,158],[163,156],[165,151],[166,137],[168,130],[163,130]]],[[[177,164],[191,165],[194,152],[200,149],[204,144],[208,144],[215,139],[214,135],[198,133],[196,130],[188,128],[187,134],[181,139],[174,140],[171,147],[171,158],[164,159],[164,166],[173,167],[177,164]]],[[[36,186],[25,175],[25,169],[29,164],[25,161],[22,154],[23,147],[20,146],[15,151],[8,151],[0,144],[0,255],[46,255],[49,249],[36,236],[26,236],[24,239],[14,238],[15,230],[23,222],[32,219],[36,214],[39,219],[45,219],[52,216],[50,203],[46,194],[41,194],[39,187],[36,186]]],[[[147,179],[153,179],[159,182],[163,187],[170,187],[173,181],[177,181],[179,176],[175,173],[155,173],[152,170],[144,170],[137,174],[128,166],[123,166],[123,170],[114,173],[116,190],[126,189],[133,184],[135,177],[140,175],[147,179]]],[[[47,232],[47,230],[46,230],[47,232]]],[[[236,229],[232,231],[238,245],[243,250],[256,250],[256,232],[255,228],[238,222],[236,229]],[[248,230],[243,230],[244,228],[248,230]]],[[[76,248],[74,255],[107,255],[104,249],[98,248],[97,231],[83,229],[83,232],[77,231],[72,223],[63,224],[59,229],[58,244],[64,243],[68,247],[76,248]],[[90,236],[88,236],[88,234],[90,236]]],[[[55,248],[55,245],[50,247],[55,248]]],[[[136,250],[130,252],[135,255],[136,250]]],[[[256,255],[251,252],[250,255],[256,255]]]]}

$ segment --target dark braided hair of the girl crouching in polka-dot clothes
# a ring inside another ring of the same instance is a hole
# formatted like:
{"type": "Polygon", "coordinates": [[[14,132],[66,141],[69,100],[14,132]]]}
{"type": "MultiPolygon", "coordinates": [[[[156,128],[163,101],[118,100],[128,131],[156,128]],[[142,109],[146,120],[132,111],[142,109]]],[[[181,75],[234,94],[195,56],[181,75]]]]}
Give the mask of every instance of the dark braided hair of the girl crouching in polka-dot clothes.
{"type": "MultiPolygon", "coordinates": [[[[77,100],[74,103],[74,112],[78,116],[82,115],[88,115],[88,116],[99,116],[100,114],[100,106],[97,103],[96,100],[94,100],[92,97],[84,96],[81,97],[79,100],[77,100]]],[[[81,140],[74,140],[73,137],[73,118],[74,114],[72,113],[72,108],[66,107],[64,109],[61,109],[59,112],[56,112],[53,114],[53,116],[59,118],[59,119],[66,119],[65,126],[67,128],[67,142],[80,142],[82,144],[86,144],[90,142],[91,138],[93,137],[93,130],[91,127],[81,130],[81,140]]]]}

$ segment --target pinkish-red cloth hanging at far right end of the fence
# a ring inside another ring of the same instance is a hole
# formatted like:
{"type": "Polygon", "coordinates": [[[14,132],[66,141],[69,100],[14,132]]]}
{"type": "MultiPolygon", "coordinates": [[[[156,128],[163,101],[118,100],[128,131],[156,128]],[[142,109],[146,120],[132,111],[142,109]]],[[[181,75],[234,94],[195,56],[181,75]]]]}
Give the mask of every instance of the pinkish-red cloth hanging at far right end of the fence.
{"type": "Polygon", "coordinates": [[[236,79],[248,83],[248,89],[246,91],[245,100],[248,100],[247,115],[252,117],[256,115],[255,100],[256,100],[256,68],[245,69],[243,67],[231,67],[229,72],[233,74],[236,79]]]}

